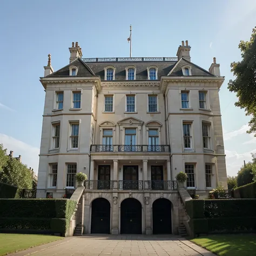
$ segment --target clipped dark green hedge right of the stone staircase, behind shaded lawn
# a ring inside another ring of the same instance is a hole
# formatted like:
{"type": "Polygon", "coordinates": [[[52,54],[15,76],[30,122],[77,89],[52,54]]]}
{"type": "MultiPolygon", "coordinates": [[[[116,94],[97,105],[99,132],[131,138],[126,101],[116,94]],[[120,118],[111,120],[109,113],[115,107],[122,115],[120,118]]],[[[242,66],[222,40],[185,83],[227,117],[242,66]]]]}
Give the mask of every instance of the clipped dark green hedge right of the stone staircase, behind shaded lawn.
{"type": "Polygon", "coordinates": [[[193,235],[256,232],[256,199],[186,201],[193,235]]]}

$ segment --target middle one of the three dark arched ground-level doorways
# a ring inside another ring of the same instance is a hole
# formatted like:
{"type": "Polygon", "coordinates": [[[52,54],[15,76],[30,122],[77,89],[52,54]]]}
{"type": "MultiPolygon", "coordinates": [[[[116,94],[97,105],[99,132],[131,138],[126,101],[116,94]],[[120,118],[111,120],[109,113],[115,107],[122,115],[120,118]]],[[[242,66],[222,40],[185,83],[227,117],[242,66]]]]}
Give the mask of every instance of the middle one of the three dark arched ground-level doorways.
{"type": "Polygon", "coordinates": [[[142,233],[142,204],[134,198],[121,203],[121,234],[142,233]]]}

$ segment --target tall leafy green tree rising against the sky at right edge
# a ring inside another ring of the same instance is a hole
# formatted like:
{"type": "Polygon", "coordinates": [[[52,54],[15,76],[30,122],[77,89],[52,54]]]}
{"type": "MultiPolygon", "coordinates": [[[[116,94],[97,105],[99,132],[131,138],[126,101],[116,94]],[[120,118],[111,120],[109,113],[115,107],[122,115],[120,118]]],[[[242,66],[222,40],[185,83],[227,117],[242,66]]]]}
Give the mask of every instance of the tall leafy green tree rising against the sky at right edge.
{"type": "Polygon", "coordinates": [[[240,41],[238,47],[242,60],[231,63],[235,79],[230,80],[228,89],[237,93],[235,106],[245,109],[246,116],[252,116],[247,133],[255,133],[256,136],[256,27],[252,30],[250,41],[240,41]]]}

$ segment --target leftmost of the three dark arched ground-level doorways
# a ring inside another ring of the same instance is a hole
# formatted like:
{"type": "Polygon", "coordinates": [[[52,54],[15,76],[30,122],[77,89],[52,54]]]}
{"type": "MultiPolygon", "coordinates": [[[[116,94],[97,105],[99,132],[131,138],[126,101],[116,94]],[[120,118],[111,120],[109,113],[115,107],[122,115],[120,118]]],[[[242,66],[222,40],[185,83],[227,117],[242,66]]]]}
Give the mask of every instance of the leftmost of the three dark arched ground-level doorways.
{"type": "Polygon", "coordinates": [[[110,234],[110,203],[105,198],[92,201],[91,233],[110,234]]]}

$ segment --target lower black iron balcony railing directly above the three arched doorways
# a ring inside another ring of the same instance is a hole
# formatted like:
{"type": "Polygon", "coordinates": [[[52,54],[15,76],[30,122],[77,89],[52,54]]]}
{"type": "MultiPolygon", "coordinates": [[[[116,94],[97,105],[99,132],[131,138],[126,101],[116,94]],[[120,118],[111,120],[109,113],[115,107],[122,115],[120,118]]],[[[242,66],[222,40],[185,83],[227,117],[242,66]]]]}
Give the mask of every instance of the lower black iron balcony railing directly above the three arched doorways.
{"type": "Polygon", "coordinates": [[[178,190],[177,180],[85,180],[84,186],[86,190],[178,190]]]}

